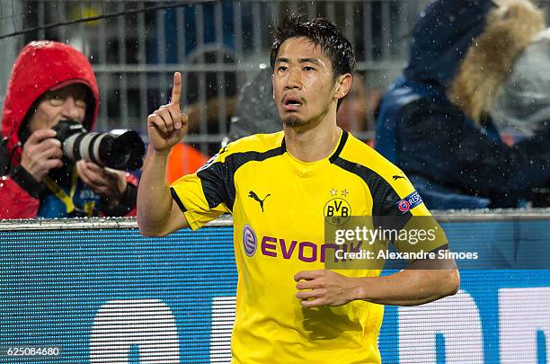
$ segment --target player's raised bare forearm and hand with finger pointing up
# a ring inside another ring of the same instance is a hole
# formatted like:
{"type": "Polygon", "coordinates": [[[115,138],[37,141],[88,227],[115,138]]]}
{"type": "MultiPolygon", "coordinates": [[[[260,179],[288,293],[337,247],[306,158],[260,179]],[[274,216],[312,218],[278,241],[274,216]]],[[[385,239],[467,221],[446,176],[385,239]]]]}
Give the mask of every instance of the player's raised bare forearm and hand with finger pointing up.
{"type": "Polygon", "coordinates": [[[180,109],[181,94],[182,75],[175,72],[172,101],[147,117],[149,146],[137,190],[137,226],[143,235],[167,235],[188,226],[165,179],[168,155],[188,128],[188,117],[180,109]]]}

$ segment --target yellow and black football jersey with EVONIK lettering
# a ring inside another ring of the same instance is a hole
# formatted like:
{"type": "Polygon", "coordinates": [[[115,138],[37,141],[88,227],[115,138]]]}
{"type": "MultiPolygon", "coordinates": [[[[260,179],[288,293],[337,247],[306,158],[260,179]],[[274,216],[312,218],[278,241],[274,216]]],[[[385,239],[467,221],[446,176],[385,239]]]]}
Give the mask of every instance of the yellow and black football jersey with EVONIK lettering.
{"type": "Polygon", "coordinates": [[[233,214],[239,274],[233,362],[380,362],[383,306],[353,301],[305,308],[293,277],[324,269],[324,223],[331,212],[430,215],[395,165],[346,131],[330,156],[304,163],[288,153],[281,131],[229,144],[171,191],[192,229],[233,214]]]}

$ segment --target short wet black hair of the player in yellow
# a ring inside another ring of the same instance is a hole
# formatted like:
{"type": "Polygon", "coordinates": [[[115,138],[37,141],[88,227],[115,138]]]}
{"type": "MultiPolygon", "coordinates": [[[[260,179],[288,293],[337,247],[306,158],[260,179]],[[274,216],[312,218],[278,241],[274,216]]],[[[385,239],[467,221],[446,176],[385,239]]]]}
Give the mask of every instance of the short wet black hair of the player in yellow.
{"type": "MultiPolygon", "coordinates": [[[[275,69],[275,59],[281,44],[289,38],[304,37],[315,46],[320,46],[324,55],[331,60],[333,77],[351,74],[355,69],[355,55],[350,40],[343,31],[324,18],[304,22],[303,14],[289,14],[276,24],[271,45],[271,71],[275,69]]],[[[343,98],[338,101],[340,106],[343,98]]]]}

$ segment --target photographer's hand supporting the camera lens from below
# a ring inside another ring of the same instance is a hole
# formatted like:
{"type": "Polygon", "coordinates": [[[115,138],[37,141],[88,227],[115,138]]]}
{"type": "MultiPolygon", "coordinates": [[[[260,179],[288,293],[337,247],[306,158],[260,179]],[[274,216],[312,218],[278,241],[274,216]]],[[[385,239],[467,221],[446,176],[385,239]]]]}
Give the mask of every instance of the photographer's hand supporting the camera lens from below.
{"type": "Polygon", "coordinates": [[[111,168],[103,168],[92,162],[78,161],[76,172],[92,191],[109,200],[110,203],[118,201],[128,186],[126,173],[111,168]]]}

